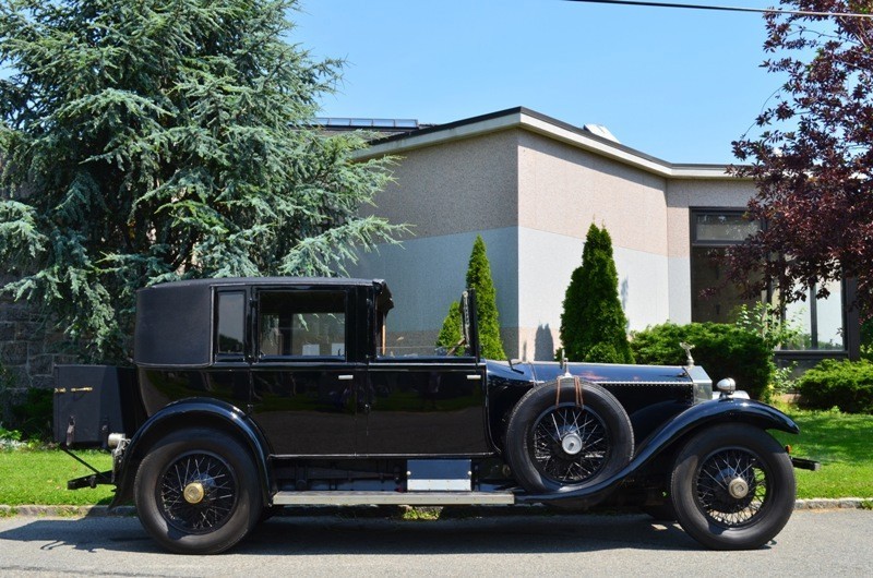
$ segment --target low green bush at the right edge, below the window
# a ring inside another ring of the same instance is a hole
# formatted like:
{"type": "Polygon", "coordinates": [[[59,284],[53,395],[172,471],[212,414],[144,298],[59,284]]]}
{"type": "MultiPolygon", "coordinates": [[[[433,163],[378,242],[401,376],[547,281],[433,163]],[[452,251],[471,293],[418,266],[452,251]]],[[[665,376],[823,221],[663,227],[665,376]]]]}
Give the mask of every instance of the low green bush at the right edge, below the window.
{"type": "Polygon", "coordinates": [[[805,408],[873,413],[873,363],[826,359],[803,374],[798,389],[805,408]]]}

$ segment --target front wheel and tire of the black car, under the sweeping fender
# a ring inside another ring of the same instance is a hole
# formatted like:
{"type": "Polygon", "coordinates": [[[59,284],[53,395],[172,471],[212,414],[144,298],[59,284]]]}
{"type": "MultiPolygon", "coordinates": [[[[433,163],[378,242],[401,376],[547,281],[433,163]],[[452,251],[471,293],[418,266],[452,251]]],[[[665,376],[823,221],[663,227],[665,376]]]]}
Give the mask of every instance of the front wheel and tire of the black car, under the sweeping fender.
{"type": "Polygon", "coordinates": [[[722,424],[685,444],[670,490],[689,535],[713,550],[752,550],[785,528],[797,486],[776,439],[752,425],[722,424]]]}

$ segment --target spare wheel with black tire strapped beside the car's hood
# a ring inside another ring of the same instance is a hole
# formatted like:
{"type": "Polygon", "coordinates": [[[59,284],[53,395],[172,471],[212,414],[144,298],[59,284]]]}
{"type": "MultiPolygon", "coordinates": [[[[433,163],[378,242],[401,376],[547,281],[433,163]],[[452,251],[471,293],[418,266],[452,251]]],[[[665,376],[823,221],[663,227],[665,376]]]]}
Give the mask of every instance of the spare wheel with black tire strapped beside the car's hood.
{"type": "Polygon", "coordinates": [[[547,384],[525,394],[506,428],[506,461],[528,492],[595,484],[626,466],[634,453],[631,420],[609,392],[584,383],[579,407],[571,380],[560,385],[558,404],[555,387],[547,384]]]}

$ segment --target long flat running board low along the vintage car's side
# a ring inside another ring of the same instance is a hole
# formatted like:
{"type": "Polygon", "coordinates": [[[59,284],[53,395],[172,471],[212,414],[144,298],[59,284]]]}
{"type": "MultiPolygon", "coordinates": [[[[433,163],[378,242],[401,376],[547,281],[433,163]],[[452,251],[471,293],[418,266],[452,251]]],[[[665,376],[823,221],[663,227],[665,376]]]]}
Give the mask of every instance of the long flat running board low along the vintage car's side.
{"type": "Polygon", "coordinates": [[[274,506],[512,505],[509,492],[277,492],[274,506]]]}

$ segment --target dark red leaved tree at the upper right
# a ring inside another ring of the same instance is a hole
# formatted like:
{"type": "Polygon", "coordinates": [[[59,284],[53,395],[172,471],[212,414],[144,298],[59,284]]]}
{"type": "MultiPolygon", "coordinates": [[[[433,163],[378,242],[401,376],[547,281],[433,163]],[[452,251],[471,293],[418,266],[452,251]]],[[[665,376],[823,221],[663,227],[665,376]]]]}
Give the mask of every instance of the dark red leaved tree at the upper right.
{"type": "MultiPolygon", "coordinates": [[[[787,10],[872,13],[873,0],[782,0],[787,10]]],[[[844,276],[873,311],[873,19],[765,16],[772,55],[786,77],[757,118],[761,132],[733,143],[758,192],[749,216],[766,224],[732,249],[734,279],[750,294],[775,282],[787,300],[844,276]]]]}

